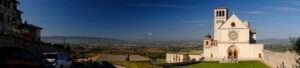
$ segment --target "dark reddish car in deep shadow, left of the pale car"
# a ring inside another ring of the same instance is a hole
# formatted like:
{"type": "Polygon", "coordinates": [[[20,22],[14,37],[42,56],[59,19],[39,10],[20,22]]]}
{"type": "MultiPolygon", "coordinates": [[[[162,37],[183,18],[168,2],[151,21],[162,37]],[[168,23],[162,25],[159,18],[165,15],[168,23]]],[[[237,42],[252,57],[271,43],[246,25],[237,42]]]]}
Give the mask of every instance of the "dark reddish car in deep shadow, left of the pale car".
{"type": "Polygon", "coordinates": [[[40,59],[16,47],[0,47],[0,68],[43,68],[40,59]]]}

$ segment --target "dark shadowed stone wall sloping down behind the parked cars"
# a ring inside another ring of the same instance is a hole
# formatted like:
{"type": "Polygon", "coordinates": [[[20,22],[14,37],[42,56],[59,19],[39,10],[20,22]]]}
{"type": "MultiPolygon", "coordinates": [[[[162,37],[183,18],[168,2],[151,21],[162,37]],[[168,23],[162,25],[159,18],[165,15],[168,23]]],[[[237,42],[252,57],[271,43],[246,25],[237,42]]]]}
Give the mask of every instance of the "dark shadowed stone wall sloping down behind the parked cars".
{"type": "Polygon", "coordinates": [[[22,39],[11,35],[0,35],[0,47],[19,47],[30,51],[34,56],[40,57],[45,52],[61,52],[69,55],[63,48],[57,48],[50,44],[22,39]]]}

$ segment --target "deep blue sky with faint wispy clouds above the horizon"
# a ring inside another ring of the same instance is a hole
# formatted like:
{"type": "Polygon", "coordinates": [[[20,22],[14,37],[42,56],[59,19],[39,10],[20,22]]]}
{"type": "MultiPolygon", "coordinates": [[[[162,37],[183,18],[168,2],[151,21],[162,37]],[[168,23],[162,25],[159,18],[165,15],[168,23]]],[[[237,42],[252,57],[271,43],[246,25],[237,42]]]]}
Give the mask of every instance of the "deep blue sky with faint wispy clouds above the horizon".
{"type": "Polygon", "coordinates": [[[22,18],[42,36],[201,40],[213,9],[229,8],[257,28],[258,39],[299,37],[299,0],[18,0],[22,18]]]}

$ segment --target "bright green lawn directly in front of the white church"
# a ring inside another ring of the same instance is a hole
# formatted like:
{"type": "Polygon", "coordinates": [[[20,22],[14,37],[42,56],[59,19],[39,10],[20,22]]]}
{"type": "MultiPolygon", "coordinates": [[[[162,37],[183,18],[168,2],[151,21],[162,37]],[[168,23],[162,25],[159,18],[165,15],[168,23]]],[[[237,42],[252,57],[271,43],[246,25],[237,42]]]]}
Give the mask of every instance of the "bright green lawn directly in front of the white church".
{"type": "Polygon", "coordinates": [[[198,64],[183,66],[184,68],[269,68],[258,61],[241,61],[239,63],[201,62],[198,64]]]}

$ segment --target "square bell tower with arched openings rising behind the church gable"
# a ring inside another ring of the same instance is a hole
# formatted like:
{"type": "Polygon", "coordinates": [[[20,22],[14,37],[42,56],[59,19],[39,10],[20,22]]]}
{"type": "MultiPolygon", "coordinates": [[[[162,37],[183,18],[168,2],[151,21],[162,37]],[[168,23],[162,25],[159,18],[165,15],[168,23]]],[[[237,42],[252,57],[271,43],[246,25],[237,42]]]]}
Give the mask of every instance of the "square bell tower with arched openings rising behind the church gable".
{"type": "Polygon", "coordinates": [[[214,10],[214,40],[220,40],[219,28],[225,23],[228,17],[228,9],[224,7],[215,8],[214,10]]]}

